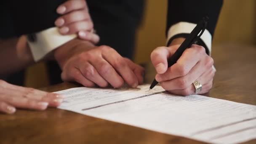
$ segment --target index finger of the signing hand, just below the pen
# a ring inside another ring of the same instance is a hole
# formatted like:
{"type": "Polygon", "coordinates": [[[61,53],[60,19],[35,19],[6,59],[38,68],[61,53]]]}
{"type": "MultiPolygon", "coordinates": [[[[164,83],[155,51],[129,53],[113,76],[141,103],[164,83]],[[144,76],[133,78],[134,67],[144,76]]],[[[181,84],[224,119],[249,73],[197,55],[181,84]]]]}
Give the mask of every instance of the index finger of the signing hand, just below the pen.
{"type": "Polygon", "coordinates": [[[161,82],[185,76],[189,73],[192,67],[194,67],[200,59],[205,58],[205,56],[207,56],[205,48],[193,45],[192,48],[186,49],[176,64],[169,67],[165,73],[161,75],[157,74],[156,80],[161,82]]]}

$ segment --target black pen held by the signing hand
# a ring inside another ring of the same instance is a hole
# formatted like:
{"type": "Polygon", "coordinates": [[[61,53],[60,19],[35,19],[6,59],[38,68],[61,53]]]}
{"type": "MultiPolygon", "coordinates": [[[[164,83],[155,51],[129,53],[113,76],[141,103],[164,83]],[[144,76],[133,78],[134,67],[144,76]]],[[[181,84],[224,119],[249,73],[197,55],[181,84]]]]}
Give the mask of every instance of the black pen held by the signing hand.
{"type": "MultiPolygon", "coordinates": [[[[188,37],[184,40],[183,43],[179,46],[177,51],[171,56],[171,58],[168,59],[168,67],[171,67],[173,64],[175,64],[178,59],[181,57],[182,53],[187,49],[190,48],[193,43],[195,43],[201,35],[203,35],[203,32],[205,31],[205,28],[208,23],[208,17],[204,17],[197,26],[192,30],[192,32],[188,35],[188,37]],[[201,33],[200,33],[201,32],[201,33]],[[200,34],[199,34],[200,33],[200,34]],[[199,35],[198,35],[199,34],[199,35]]],[[[168,43],[169,44],[169,43],[168,43]]],[[[167,45],[168,46],[168,45],[167,45]]],[[[157,85],[157,81],[154,80],[152,84],[149,87],[149,90],[155,87],[157,85]]]]}

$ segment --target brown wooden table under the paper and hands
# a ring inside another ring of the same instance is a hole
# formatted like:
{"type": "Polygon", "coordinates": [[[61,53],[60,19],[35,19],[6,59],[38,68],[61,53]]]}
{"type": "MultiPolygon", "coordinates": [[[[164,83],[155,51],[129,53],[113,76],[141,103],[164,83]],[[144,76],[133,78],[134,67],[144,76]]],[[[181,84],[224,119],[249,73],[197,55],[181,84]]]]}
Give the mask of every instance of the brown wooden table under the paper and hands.
{"type": "MultiPolygon", "coordinates": [[[[213,48],[212,56],[217,72],[213,89],[206,96],[256,105],[256,48],[222,45],[213,48]]],[[[146,77],[152,80],[152,76],[146,77]]],[[[42,89],[53,92],[72,87],[76,85],[62,83],[42,89]]],[[[0,114],[0,144],[173,142],[202,143],[54,108],[0,114]]],[[[247,143],[255,144],[256,139],[247,143]]]]}

